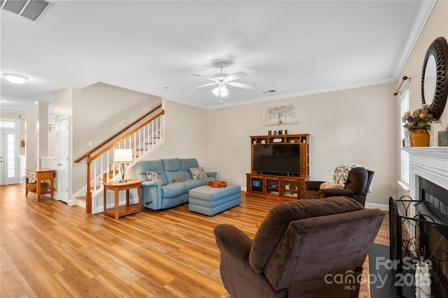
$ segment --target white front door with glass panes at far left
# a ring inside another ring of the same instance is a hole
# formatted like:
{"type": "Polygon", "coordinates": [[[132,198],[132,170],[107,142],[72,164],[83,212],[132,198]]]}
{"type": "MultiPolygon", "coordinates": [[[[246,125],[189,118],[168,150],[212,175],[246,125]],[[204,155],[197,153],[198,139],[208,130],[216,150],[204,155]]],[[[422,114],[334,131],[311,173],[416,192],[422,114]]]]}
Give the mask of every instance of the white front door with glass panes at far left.
{"type": "Polygon", "coordinates": [[[16,128],[0,128],[0,184],[18,183],[18,140],[16,128]]]}

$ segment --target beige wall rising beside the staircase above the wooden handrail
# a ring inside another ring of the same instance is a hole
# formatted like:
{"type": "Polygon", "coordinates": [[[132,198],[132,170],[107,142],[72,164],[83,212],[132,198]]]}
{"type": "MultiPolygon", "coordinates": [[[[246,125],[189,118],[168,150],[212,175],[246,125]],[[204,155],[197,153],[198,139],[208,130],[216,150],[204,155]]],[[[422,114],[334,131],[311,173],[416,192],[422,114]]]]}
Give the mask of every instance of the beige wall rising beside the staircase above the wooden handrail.
{"type": "MultiPolygon", "coordinates": [[[[55,118],[69,117],[70,160],[82,156],[127,124],[153,110],[162,98],[99,82],[57,94],[55,118]],[[89,146],[92,142],[92,146],[89,146]]],[[[57,146],[56,146],[57,147],[57,146]]],[[[57,148],[55,149],[57,150],[57,148]]],[[[85,162],[71,165],[70,195],[85,186],[85,162]]]]}

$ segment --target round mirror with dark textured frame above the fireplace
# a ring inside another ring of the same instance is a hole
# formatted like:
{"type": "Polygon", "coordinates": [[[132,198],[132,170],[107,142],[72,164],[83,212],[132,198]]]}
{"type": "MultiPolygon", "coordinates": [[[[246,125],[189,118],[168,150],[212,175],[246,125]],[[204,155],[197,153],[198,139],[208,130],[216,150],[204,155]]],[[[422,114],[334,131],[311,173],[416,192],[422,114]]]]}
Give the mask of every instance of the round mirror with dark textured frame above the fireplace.
{"type": "Polygon", "coordinates": [[[447,40],[436,38],[426,52],[421,74],[421,103],[429,105],[428,111],[433,114],[434,120],[442,116],[447,103],[447,60],[447,40]]]}

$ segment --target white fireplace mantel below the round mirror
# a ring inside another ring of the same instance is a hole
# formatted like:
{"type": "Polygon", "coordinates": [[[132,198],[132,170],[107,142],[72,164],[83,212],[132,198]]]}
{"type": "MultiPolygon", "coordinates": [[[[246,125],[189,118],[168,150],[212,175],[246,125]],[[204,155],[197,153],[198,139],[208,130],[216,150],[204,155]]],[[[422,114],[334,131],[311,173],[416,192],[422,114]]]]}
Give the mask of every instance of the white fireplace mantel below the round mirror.
{"type": "Polygon", "coordinates": [[[419,198],[419,177],[448,189],[448,147],[403,147],[409,154],[409,191],[419,198]]]}

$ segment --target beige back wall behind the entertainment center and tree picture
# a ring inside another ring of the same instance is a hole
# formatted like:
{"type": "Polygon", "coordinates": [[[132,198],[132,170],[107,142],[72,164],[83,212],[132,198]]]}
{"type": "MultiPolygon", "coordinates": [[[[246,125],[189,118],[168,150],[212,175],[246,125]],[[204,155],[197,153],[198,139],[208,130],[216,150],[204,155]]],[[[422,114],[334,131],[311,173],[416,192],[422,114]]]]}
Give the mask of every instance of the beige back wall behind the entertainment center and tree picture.
{"type": "Polygon", "coordinates": [[[288,129],[310,134],[311,179],[331,181],[339,163],[360,163],[374,170],[367,202],[387,204],[396,195],[395,84],[299,96],[207,111],[207,165],[219,179],[246,188],[251,170],[249,135],[288,129]],[[262,126],[262,110],[298,104],[300,124],[262,126]]]}

